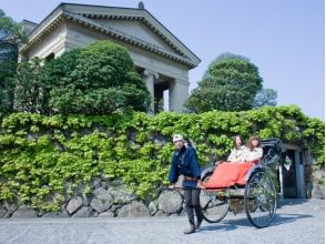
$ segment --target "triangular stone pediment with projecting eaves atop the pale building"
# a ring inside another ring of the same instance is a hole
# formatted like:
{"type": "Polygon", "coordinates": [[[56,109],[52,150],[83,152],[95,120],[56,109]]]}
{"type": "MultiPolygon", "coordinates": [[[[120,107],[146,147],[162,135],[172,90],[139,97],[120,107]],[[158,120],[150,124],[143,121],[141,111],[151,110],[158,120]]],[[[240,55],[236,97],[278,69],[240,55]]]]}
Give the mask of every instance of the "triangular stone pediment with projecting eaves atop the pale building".
{"type": "Polygon", "coordinates": [[[113,39],[194,68],[200,59],[144,9],[61,3],[30,34],[27,52],[64,21],[105,33],[113,39]]]}

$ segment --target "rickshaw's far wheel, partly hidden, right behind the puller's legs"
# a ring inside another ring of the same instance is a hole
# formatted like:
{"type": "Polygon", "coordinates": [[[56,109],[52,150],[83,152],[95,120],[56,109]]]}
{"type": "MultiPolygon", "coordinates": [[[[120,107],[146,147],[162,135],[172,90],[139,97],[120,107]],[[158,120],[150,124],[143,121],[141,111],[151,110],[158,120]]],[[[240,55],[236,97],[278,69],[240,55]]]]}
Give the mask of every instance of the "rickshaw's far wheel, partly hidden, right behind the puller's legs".
{"type": "MultiPolygon", "coordinates": [[[[207,182],[212,176],[207,174],[203,177],[203,182],[207,182]]],[[[223,195],[223,192],[217,191],[201,191],[201,207],[205,221],[210,223],[217,223],[222,221],[228,211],[228,200],[223,195]]]]}

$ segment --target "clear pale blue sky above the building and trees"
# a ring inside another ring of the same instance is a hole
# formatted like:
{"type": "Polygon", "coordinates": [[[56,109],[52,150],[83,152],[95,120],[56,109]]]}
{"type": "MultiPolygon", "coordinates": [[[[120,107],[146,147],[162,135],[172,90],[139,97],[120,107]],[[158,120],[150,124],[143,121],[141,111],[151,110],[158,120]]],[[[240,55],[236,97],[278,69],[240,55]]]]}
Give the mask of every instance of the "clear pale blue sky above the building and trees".
{"type": "MultiPolygon", "coordinates": [[[[63,0],[64,1],[64,0],[63,0]]],[[[39,23],[60,0],[1,0],[14,21],[39,23]]],[[[139,0],[64,2],[137,8],[139,0]]],[[[325,121],[324,0],[143,0],[151,12],[201,60],[190,71],[191,90],[221,53],[248,58],[277,105],[296,104],[325,121]]]]}

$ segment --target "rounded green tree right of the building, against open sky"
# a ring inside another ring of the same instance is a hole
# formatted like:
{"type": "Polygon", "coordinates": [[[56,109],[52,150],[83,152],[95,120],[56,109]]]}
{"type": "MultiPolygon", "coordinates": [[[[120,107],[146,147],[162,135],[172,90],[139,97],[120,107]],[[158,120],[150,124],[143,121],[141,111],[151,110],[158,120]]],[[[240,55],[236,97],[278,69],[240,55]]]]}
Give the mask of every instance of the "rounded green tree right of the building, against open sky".
{"type": "Polygon", "coordinates": [[[249,110],[262,82],[257,67],[247,58],[223,53],[208,65],[185,106],[196,113],[249,110]]]}

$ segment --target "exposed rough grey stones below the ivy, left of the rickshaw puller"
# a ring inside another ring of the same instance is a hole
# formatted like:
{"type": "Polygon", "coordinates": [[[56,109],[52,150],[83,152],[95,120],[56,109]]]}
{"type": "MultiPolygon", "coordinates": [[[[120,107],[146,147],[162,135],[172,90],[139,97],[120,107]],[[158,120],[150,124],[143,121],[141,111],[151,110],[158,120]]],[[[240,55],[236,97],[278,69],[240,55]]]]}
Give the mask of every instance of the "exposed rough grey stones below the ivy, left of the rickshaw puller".
{"type": "Polygon", "coordinates": [[[123,184],[101,179],[94,179],[92,184],[90,194],[75,193],[57,213],[4,202],[0,204],[0,217],[137,217],[184,213],[184,199],[179,191],[160,190],[156,199],[142,201],[123,184]]]}

